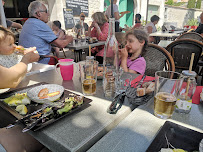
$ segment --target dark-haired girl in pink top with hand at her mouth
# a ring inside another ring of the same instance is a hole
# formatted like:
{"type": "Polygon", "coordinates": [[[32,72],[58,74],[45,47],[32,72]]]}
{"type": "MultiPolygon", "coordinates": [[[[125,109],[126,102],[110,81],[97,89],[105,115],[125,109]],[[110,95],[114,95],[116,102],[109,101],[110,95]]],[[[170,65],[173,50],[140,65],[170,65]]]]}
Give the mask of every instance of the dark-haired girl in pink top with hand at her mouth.
{"type": "Polygon", "coordinates": [[[120,66],[124,72],[144,74],[146,61],[142,57],[148,43],[148,34],[143,30],[129,31],[126,36],[125,48],[120,49],[120,66]]]}

